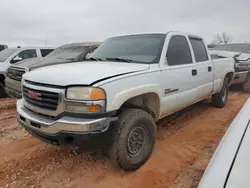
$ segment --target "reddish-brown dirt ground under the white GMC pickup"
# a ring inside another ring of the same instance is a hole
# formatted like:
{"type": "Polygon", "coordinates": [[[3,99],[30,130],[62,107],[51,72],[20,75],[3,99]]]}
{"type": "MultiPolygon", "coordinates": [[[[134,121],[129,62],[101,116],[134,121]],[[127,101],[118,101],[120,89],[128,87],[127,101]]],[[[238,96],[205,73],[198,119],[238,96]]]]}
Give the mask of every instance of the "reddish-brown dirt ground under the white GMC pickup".
{"type": "Polygon", "coordinates": [[[17,124],[15,100],[0,100],[0,187],[195,188],[248,94],[229,98],[224,109],[205,101],[160,121],[154,155],[133,173],[115,169],[102,153],[40,142],[17,124]]]}

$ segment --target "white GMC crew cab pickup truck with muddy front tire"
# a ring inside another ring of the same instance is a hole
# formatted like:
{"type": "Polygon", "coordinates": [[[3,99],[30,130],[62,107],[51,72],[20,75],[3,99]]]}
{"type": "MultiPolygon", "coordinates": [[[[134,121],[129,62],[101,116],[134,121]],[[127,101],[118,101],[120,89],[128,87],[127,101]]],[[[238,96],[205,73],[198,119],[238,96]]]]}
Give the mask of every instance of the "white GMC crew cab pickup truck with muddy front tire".
{"type": "Polygon", "coordinates": [[[24,74],[18,122],[50,144],[104,149],[124,170],[153,152],[156,121],[204,98],[224,107],[234,60],[180,32],[107,39],[87,60],[24,74]]]}

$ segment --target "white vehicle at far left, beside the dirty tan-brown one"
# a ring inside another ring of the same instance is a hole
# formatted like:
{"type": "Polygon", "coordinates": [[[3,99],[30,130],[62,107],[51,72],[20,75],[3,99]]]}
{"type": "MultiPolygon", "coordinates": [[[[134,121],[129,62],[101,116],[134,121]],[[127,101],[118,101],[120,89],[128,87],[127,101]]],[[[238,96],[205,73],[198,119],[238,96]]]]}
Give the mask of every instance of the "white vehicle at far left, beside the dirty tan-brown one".
{"type": "Polygon", "coordinates": [[[54,48],[50,47],[24,47],[24,48],[7,48],[0,52],[0,98],[5,96],[5,78],[7,69],[11,64],[21,60],[44,57],[52,52],[54,48]]]}

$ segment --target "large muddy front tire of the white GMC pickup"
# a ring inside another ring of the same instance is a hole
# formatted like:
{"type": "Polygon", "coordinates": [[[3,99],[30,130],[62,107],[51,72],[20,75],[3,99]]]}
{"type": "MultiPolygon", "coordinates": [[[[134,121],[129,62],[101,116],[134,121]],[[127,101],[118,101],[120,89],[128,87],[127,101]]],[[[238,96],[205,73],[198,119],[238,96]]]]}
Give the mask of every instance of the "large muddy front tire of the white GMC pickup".
{"type": "Polygon", "coordinates": [[[109,148],[111,161],[126,171],[139,169],[151,156],[155,145],[156,124],[153,117],[143,110],[126,109],[113,128],[113,142],[109,148]]]}

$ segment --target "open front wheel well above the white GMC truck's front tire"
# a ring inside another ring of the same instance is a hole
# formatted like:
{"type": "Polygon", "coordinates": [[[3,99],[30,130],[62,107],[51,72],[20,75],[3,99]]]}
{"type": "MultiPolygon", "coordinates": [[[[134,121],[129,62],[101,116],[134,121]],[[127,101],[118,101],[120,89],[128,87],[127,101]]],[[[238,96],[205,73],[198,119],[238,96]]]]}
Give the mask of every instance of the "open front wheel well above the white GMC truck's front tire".
{"type": "Polygon", "coordinates": [[[153,118],[158,119],[160,114],[160,99],[156,93],[146,93],[128,99],[122,108],[139,108],[150,113],[153,118]]]}

